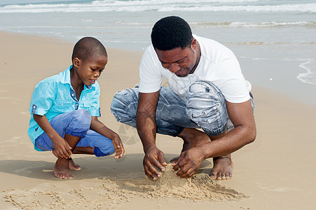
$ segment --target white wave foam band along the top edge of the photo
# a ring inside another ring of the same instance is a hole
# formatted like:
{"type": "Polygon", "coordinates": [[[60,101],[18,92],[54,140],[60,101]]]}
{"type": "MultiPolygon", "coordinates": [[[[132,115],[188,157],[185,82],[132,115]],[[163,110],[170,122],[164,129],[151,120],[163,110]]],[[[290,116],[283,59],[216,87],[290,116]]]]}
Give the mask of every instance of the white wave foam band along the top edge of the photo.
{"type": "MultiPolygon", "coordinates": [[[[0,7],[0,13],[80,13],[157,10],[173,11],[247,11],[247,12],[300,12],[316,13],[316,3],[294,3],[282,5],[252,5],[259,0],[148,0],[148,1],[92,1],[92,3],[41,3],[8,5],[0,7]],[[232,5],[234,4],[235,5],[232,5]],[[242,5],[243,4],[243,5],[242,5]]],[[[266,2],[266,1],[263,1],[266,2]]],[[[267,1],[268,3],[268,1],[267,1]]]]}

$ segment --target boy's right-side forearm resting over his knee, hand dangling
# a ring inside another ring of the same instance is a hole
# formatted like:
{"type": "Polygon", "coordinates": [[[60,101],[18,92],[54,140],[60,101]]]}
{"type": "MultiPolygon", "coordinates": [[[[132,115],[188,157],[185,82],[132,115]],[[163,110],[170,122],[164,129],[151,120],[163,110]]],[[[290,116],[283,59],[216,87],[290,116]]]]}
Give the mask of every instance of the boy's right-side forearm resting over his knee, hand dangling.
{"type": "Polygon", "coordinates": [[[99,134],[102,134],[104,137],[108,137],[112,140],[116,152],[114,159],[123,157],[125,150],[122,141],[118,134],[116,134],[116,132],[110,130],[107,126],[101,123],[95,116],[92,116],[90,128],[91,130],[94,130],[95,132],[98,132],[99,134]]]}

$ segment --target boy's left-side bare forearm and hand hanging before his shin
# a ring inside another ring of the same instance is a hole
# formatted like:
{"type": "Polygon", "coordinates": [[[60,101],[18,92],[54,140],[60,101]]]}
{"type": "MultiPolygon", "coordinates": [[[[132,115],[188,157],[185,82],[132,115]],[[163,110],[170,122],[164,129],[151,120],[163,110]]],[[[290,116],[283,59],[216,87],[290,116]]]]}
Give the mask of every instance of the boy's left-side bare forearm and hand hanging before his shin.
{"type": "Polygon", "coordinates": [[[66,159],[71,158],[71,147],[67,141],[60,137],[60,135],[53,129],[46,116],[33,114],[33,118],[39,127],[41,127],[41,129],[46,132],[48,137],[50,137],[50,139],[53,141],[53,146],[57,156],[66,159]]]}

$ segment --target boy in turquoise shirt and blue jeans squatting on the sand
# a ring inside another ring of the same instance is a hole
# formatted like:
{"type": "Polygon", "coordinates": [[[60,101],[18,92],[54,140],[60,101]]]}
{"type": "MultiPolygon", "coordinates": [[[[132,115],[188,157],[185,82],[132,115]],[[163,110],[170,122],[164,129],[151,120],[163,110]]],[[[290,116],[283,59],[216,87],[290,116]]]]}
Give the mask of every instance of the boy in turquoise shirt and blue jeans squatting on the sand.
{"type": "Polygon", "coordinates": [[[59,179],[72,179],[69,169],[81,169],[71,159],[73,153],[100,157],[115,151],[114,159],[124,154],[118,134],[97,119],[97,78],[107,64],[107,50],[97,39],[85,37],[74,46],[71,59],[69,69],[36,85],[29,108],[29,138],[36,151],[53,151],[53,172],[59,179]]]}

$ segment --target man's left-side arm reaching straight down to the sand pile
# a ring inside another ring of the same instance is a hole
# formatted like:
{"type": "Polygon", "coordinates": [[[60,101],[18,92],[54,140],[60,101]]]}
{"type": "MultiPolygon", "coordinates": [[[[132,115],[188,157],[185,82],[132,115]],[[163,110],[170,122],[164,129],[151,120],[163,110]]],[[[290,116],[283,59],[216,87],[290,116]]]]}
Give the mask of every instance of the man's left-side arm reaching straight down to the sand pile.
{"type": "Polygon", "coordinates": [[[159,91],[152,93],[139,92],[136,123],[137,132],[144,147],[144,170],[145,174],[156,181],[161,171],[165,171],[165,157],[162,151],[156,146],[156,108],[159,98],[159,91]],[[155,167],[153,167],[155,166],[155,167]]]}

